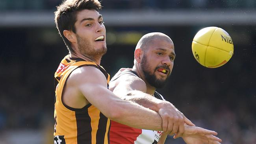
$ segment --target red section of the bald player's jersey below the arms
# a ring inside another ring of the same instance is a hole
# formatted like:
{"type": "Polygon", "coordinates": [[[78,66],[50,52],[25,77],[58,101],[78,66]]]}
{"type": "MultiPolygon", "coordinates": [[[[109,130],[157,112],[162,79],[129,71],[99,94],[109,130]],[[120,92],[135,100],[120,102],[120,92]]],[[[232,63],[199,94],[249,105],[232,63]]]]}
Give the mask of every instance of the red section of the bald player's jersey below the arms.
{"type": "Polygon", "coordinates": [[[111,120],[110,144],[134,144],[134,141],[141,133],[141,129],[135,129],[111,120]]]}

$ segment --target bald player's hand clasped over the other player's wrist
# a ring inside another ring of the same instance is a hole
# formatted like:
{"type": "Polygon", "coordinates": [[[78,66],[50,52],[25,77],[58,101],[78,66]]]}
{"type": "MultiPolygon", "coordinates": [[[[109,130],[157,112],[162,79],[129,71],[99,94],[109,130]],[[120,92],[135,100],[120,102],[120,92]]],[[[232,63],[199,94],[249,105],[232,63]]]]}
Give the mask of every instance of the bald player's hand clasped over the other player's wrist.
{"type": "Polygon", "coordinates": [[[158,114],[162,118],[162,128],[165,133],[181,136],[184,133],[184,124],[195,126],[184,116],[173,104],[169,102],[161,103],[158,114]]]}

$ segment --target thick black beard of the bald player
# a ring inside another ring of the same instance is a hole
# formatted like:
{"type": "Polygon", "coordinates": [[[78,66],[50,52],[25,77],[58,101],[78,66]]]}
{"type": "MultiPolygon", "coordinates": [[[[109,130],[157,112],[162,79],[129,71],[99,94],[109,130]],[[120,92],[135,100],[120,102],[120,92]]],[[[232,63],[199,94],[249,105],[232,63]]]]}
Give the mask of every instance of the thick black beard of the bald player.
{"type": "MultiPolygon", "coordinates": [[[[164,80],[156,78],[156,75],[154,74],[154,72],[156,72],[156,70],[158,68],[155,68],[154,71],[151,72],[152,70],[150,70],[150,69],[152,69],[152,68],[151,68],[150,64],[147,62],[147,57],[146,56],[142,57],[142,59],[141,59],[141,69],[143,71],[143,74],[145,76],[146,81],[151,86],[155,87],[156,89],[164,87],[166,82],[167,82],[168,77],[171,75],[170,74],[164,80]]],[[[165,69],[167,69],[167,68],[165,68],[165,69]]],[[[169,68],[168,68],[168,70],[169,70],[169,68]]]]}

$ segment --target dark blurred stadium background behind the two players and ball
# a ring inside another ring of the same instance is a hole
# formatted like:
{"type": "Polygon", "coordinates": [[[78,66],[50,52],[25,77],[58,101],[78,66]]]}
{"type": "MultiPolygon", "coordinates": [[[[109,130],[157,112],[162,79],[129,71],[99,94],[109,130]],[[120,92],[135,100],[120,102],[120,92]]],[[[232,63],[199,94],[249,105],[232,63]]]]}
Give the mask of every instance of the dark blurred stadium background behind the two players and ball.
{"type": "MultiPolygon", "coordinates": [[[[61,0],[0,0],[0,144],[52,144],[54,72],[68,54],[54,24],[61,0]]],[[[163,32],[174,41],[173,73],[159,89],[197,126],[223,144],[256,144],[255,0],[102,0],[111,76],[132,67],[137,41],[163,32]],[[234,41],[219,68],[201,66],[191,52],[198,30],[217,26],[234,41]]],[[[166,144],[184,144],[168,137],[166,144]]]]}

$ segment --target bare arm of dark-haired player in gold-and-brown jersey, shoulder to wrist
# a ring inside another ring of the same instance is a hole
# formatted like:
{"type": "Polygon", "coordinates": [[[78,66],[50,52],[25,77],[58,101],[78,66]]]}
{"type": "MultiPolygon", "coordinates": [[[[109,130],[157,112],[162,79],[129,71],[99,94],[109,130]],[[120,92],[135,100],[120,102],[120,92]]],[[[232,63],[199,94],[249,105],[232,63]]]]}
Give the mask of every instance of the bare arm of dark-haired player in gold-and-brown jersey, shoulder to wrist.
{"type": "Polygon", "coordinates": [[[111,120],[139,129],[162,130],[162,119],[158,113],[113,94],[107,89],[106,77],[95,67],[84,66],[74,70],[69,77],[69,87],[111,120]]]}

